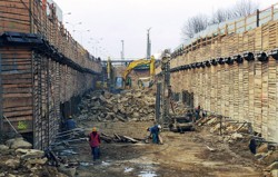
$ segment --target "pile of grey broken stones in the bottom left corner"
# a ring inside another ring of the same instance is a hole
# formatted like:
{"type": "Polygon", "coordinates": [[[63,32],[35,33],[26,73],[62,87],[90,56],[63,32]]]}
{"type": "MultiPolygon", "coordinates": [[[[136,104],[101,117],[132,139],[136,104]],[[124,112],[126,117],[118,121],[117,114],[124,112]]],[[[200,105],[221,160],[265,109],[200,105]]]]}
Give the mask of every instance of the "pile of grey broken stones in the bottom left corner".
{"type": "Polygon", "coordinates": [[[0,145],[0,177],[67,177],[56,167],[48,166],[44,151],[31,149],[23,138],[14,138],[0,145]]]}

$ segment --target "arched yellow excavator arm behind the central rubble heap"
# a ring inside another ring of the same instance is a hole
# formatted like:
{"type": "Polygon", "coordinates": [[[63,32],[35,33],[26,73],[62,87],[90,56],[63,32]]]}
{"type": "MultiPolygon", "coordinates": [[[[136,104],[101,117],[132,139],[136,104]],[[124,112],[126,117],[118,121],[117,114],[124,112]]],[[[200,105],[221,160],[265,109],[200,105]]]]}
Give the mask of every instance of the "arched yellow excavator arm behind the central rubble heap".
{"type": "Polygon", "coordinates": [[[139,59],[139,60],[135,60],[132,62],[129,63],[129,66],[127,67],[127,69],[125,70],[123,75],[122,75],[122,79],[123,79],[123,86],[125,88],[130,88],[131,87],[131,79],[128,78],[128,75],[136,68],[142,65],[149,65],[150,66],[150,77],[148,78],[139,78],[139,82],[138,85],[143,87],[143,82],[148,81],[149,82],[149,87],[151,85],[151,82],[153,82],[155,79],[155,63],[156,63],[156,59],[153,56],[151,56],[151,58],[148,59],[139,59]]]}

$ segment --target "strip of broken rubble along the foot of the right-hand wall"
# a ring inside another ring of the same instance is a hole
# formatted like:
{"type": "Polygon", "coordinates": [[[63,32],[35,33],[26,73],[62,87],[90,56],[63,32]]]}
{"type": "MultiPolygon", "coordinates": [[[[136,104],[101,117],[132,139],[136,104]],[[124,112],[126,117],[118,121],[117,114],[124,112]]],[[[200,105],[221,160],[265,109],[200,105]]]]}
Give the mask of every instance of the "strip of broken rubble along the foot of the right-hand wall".
{"type": "Polygon", "coordinates": [[[209,116],[200,119],[197,125],[208,126],[211,134],[221,134],[222,140],[229,144],[232,151],[242,157],[255,159],[258,164],[265,166],[265,176],[278,176],[278,144],[252,136],[247,122],[220,120],[219,117],[209,116]],[[256,141],[256,155],[250,153],[249,145],[251,139],[256,141]]]}

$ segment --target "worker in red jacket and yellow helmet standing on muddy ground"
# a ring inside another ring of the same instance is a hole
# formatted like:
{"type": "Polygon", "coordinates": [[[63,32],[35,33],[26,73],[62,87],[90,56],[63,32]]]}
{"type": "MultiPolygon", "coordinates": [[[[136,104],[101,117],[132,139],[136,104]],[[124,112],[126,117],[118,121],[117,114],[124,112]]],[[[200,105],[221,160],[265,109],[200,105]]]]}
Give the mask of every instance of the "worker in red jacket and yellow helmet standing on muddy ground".
{"type": "Polygon", "coordinates": [[[96,161],[97,159],[99,159],[99,155],[100,155],[100,135],[97,131],[97,128],[93,127],[91,134],[89,135],[89,142],[90,142],[90,147],[91,147],[91,155],[92,155],[92,159],[93,161],[96,161]]]}

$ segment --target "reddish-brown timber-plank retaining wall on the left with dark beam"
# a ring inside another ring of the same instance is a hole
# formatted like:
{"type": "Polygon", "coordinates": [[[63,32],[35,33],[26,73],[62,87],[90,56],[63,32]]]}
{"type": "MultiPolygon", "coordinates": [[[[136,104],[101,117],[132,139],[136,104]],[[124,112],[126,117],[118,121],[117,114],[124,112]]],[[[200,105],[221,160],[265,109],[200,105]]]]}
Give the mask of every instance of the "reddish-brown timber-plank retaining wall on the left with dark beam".
{"type": "MultiPolygon", "coordinates": [[[[57,135],[61,105],[92,89],[101,72],[99,60],[71,38],[54,8],[40,0],[0,0],[0,115],[18,131],[32,132],[39,149],[57,135]]],[[[0,130],[12,131],[1,120],[0,130]]]]}

